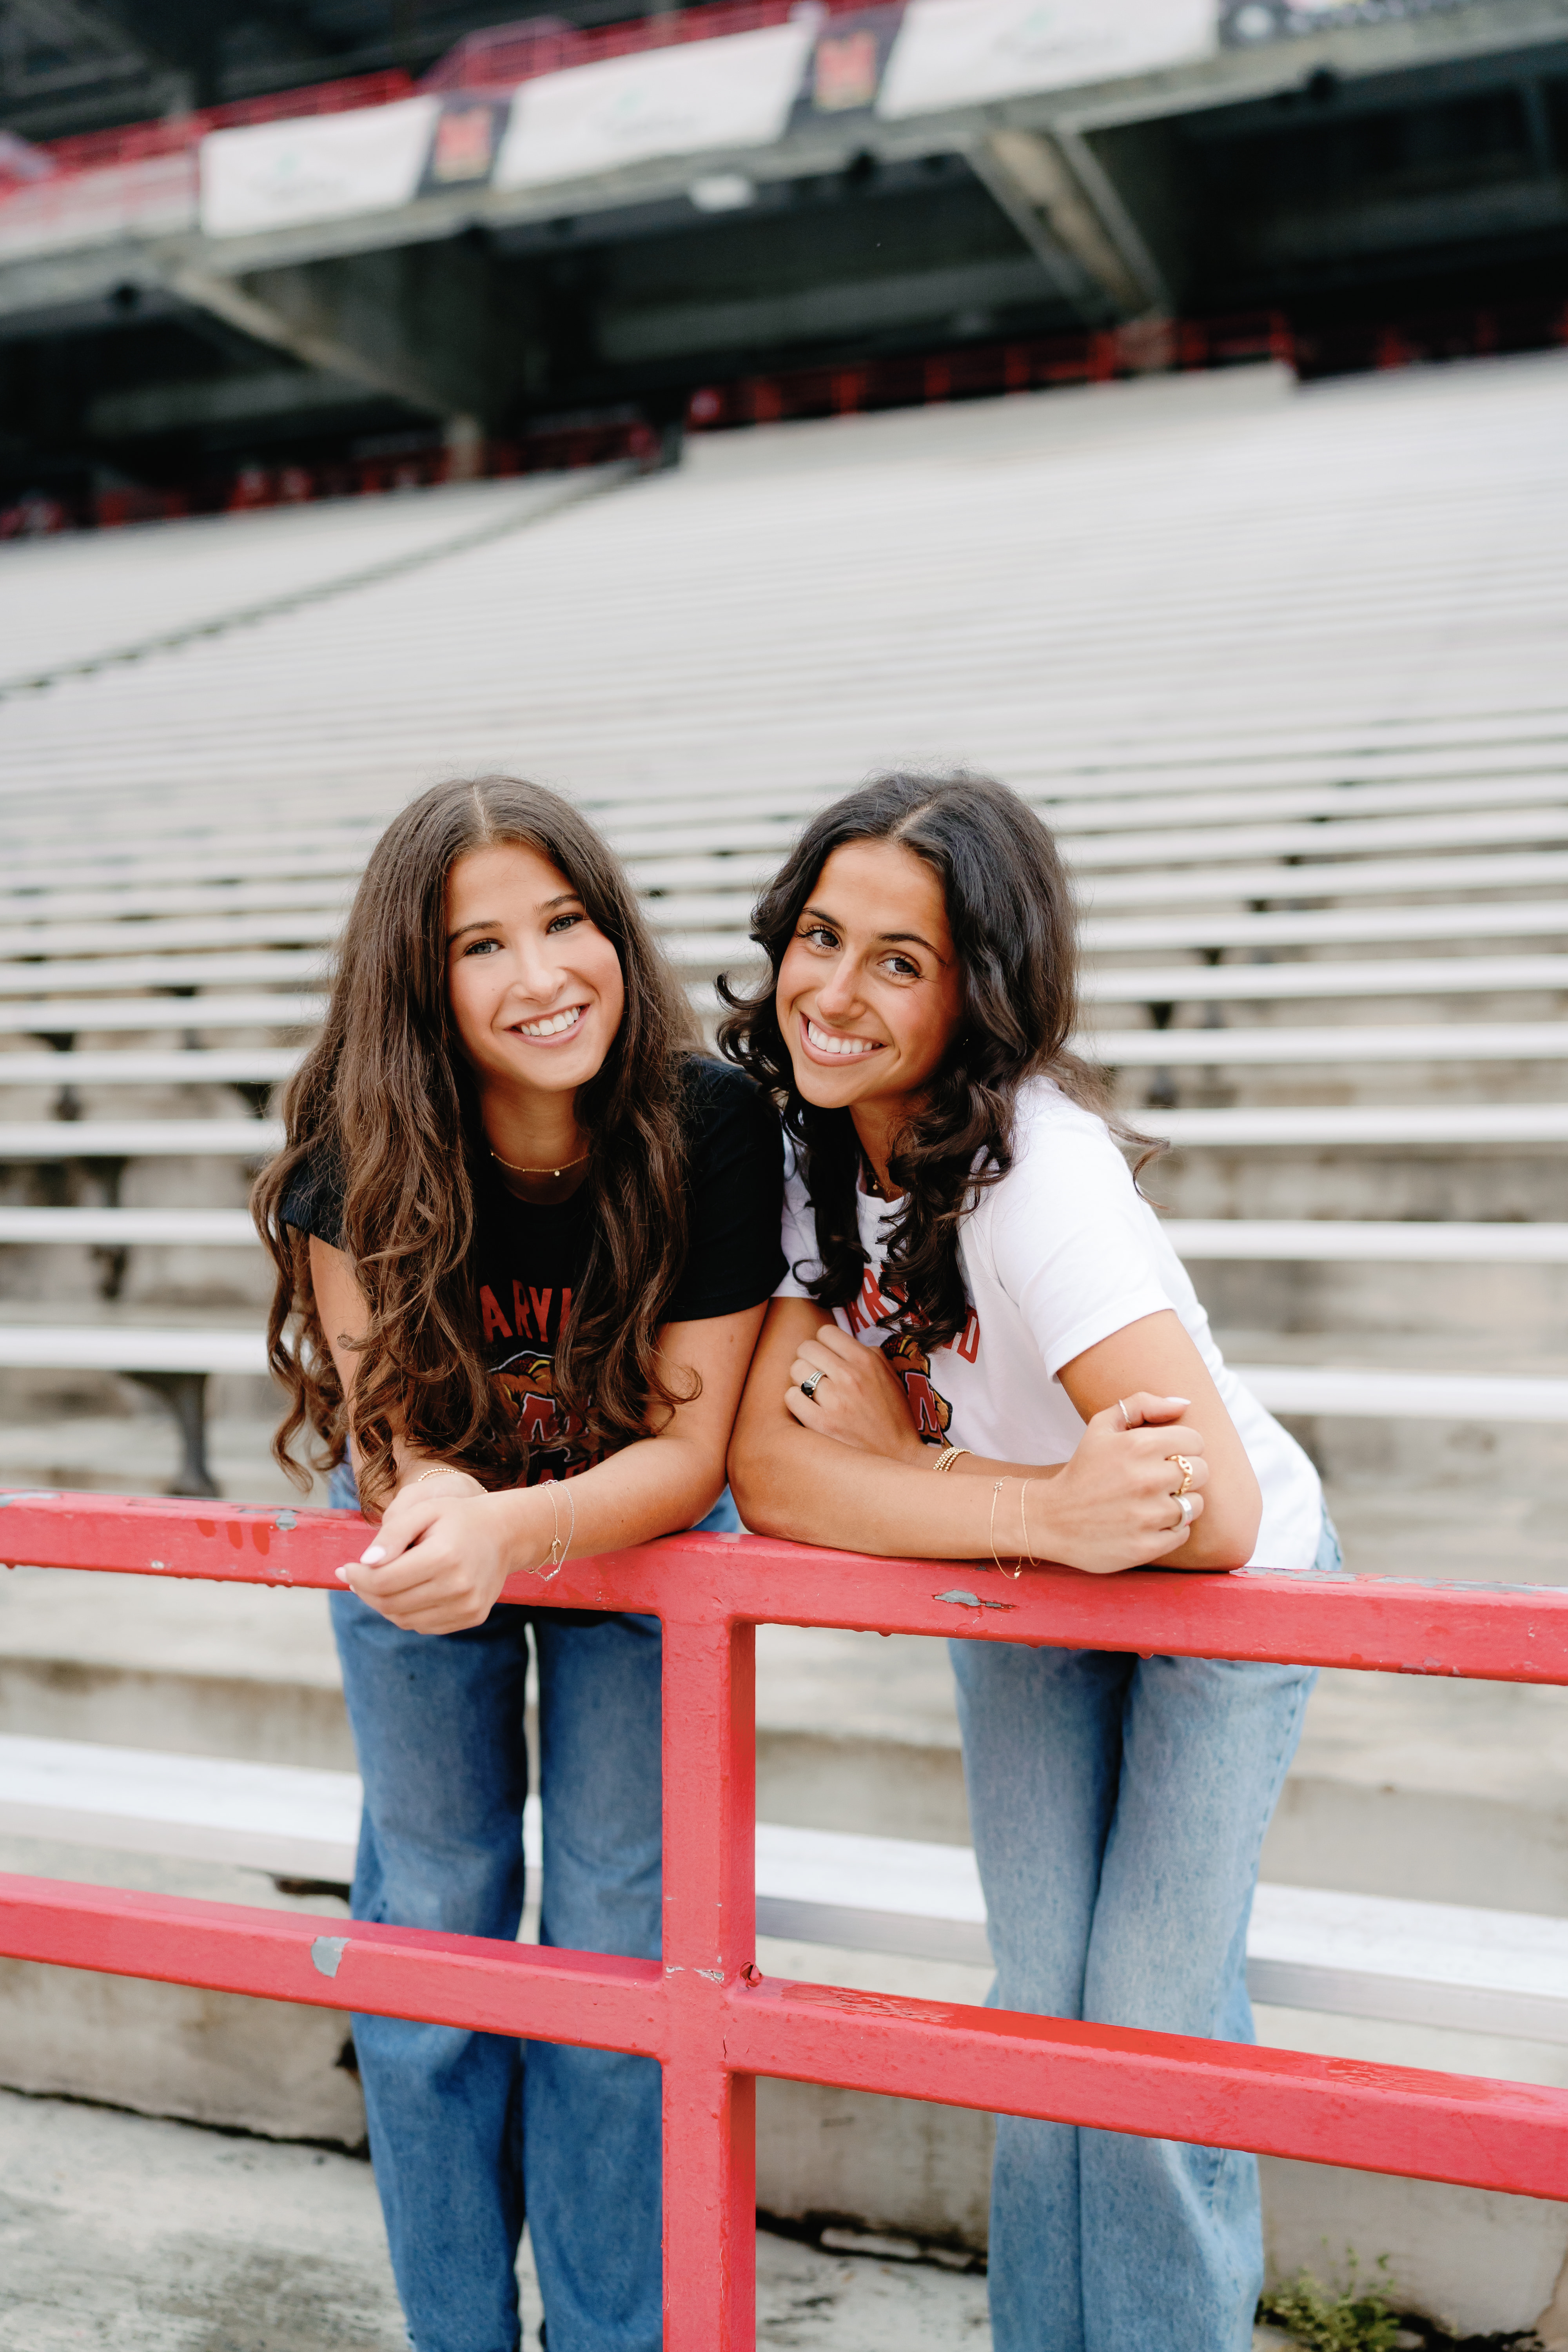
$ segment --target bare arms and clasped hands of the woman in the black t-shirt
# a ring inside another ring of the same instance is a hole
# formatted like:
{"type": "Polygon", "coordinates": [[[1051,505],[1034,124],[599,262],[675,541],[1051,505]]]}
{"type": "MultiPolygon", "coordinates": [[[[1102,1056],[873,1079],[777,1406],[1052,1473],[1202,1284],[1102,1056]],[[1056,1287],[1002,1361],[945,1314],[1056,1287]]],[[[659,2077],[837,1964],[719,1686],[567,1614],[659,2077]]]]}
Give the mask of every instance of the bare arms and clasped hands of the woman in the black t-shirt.
{"type": "MultiPolygon", "coordinates": [[[[364,1301],[339,1251],[313,1242],[310,1265],[322,1327],[348,1392],[355,1355],[339,1334],[353,1338],[364,1329],[364,1301]],[[317,1254],[336,1258],[336,1265],[317,1265],[317,1254]]],[[[416,1484],[425,1463],[400,1439],[397,1468],[407,1465],[409,1477],[388,1503],[376,1543],[339,1576],[395,1625],[456,1632],[482,1625],[505,1578],[541,1566],[557,1538],[557,1559],[564,1559],[567,1552],[616,1552],[691,1526],[712,1510],[724,1486],[724,1446],[762,1315],[757,1305],[708,1322],[665,1324],[658,1336],[665,1383],[682,1395],[693,1388],[696,1374],[696,1395],[675,1406],[658,1435],[623,1446],[564,1484],[487,1494],[465,1470],[451,1470],[451,1484],[416,1484]]]]}

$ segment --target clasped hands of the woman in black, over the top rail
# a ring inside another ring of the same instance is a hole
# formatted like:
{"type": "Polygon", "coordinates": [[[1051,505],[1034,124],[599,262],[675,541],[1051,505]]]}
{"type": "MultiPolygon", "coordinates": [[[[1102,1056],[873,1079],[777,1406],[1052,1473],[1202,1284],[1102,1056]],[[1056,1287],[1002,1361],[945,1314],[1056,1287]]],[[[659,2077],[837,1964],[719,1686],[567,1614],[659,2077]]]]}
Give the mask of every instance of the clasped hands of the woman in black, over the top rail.
{"type": "Polygon", "coordinates": [[[482,1625],[508,1576],[550,1550],[545,1494],[487,1494],[465,1470],[418,1479],[388,1503],[376,1541],[339,1576],[404,1632],[482,1625]]]}

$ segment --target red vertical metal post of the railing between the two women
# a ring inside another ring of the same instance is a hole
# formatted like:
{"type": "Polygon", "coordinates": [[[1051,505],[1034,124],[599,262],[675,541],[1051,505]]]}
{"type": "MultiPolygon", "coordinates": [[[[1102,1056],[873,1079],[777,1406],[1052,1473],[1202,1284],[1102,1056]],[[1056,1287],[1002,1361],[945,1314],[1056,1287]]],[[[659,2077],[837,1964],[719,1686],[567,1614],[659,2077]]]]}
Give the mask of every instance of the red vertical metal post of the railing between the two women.
{"type": "Polygon", "coordinates": [[[665,2352],[755,2352],[757,2086],[724,2051],[757,1947],[752,1625],[665,1616],[663,1804],[665,2352]]]}

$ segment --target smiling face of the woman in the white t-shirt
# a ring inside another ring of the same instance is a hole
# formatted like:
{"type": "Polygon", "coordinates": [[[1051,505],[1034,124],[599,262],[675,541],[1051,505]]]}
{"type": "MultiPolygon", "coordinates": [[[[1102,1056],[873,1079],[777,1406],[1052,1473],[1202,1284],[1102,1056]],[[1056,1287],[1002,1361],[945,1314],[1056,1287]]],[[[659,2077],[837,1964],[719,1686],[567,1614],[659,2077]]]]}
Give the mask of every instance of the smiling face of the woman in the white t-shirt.
{"type": "Polygon", "coordinates": [[[938,1070],[964,1007],[943,884],[900,842],[846,842],[825,861],[778,967],[795,1084],[849,1110],[886,1169],[886,1136],[938,1070]]]}

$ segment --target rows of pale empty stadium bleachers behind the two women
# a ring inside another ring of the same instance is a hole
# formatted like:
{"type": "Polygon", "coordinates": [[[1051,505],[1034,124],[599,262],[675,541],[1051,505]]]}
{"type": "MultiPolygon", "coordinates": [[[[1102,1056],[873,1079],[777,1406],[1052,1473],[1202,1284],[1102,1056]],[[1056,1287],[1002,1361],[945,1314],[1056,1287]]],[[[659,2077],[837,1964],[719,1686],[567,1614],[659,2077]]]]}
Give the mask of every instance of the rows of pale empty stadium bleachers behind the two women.
{"type": "MultiPolygon", "coordinates": [[[[867,769],[966,762],[1063,840],[1079,1044],[1171,1138],[1150,1188],[1227,1355],[1324,1463],[1349,1564],[1561,1578],[1566,405],[1566,358],[1312,390],[1239,369],[698,437],[571,501],[0,548],[5,675],[52,680],[0,694],[0,1482],[292,1501],[244,1190],[407,793],[574,793],[712,1021],[799,818],[867,769]]],[[[350,1830],[310,1844],[353,1797],[324,1628],[284,1656],[205,1599],[92,1595],[89,1625],[7,1585],[2,1835],[52,1804],[94,1851],[235,1860],[244,1832],[263,1867],[341,1872],[350,1830]],[[214,1750],[233,1804],[190,1762],[214,1750]]],[[[820,1966],[813,1938],[846,1983],[856,1940],[978,1962],[940,1661],[858,1639],[762,1642],[764,1966],[820,1966]]],[[[1561,1693],[1493,1717],[1422,1689],[1448,1712],[1418,1733],[1373,1682],[1326,1679],[1286,1785],[1265,2037],[1302,2046],[1307,2009],[1347,2056],[1359,2016],[1486,2030],[1476,2065],[1559,2079],[1561,1693]]]]}

